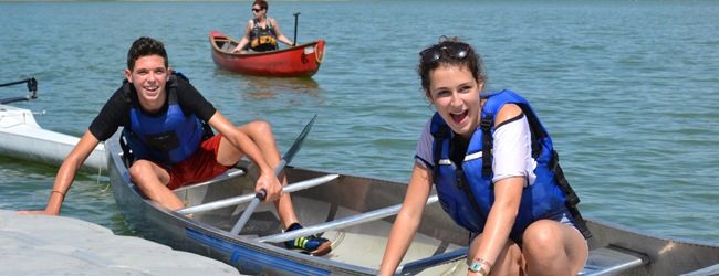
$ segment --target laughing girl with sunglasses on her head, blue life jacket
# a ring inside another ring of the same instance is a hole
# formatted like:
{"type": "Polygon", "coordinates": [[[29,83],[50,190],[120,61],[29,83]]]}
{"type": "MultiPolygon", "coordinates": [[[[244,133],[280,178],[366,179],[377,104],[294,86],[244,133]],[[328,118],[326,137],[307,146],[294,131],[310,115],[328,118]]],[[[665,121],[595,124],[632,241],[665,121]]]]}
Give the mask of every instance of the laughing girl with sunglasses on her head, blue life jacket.
{"type": "Polygon", "coordinates": [[[442,209],[472,233],[468,276],[576,275],[590,234],[549,135],[513,92],[480,95],[481,57],[442,38],[419,53],[417,73],[437,113],[420,135],[379,275],[393,275],[407,252],[433,184],[442,209]]]}

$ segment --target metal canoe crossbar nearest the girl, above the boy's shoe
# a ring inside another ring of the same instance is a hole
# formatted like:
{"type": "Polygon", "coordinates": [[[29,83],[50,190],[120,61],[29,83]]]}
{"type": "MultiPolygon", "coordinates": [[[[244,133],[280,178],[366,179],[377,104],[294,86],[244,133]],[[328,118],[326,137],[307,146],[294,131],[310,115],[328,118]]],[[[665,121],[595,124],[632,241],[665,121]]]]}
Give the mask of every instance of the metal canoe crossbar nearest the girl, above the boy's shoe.
{"type": "MultiPolygon", "coordinates": [[[[431,204],[437,202],[438,198],[437,194],[433,194],[429,197],[427,200],[427,204],[431,204]]],[[[281,234],[275,234],[275,235],[269,235],[269,236],[263,236],[263,237],[258,237],[254,241],[261,242],[261,243],[267,243],[267,242],[272,242],[272,243],[279,243],[279,242],[284,242],[284,241],[290,241],[294,240],[301,236],[309,236],[309,235],[314,235],[317,233],[323,233],[330,230],[337,230],[337,229],[344,229],[352,225],[357,225],[362,224],[365,222],[371,222],[371,221],[376,221],[381,220],[390,215],[395,215],[399,213],[399,210],[402,209],[402,204],[396,204],[383,209],[378,209],[372,212],[366,212],[353,216],[347,216],[343,217],[340,220],[334,220],[331,222],[325,222],[322,224],[317,225],[312,225],[312,226],[305,226],[304,229],[301,230],[295,230],[295,231],[290,231],[290,232],[284,232],[281,234]]]]}

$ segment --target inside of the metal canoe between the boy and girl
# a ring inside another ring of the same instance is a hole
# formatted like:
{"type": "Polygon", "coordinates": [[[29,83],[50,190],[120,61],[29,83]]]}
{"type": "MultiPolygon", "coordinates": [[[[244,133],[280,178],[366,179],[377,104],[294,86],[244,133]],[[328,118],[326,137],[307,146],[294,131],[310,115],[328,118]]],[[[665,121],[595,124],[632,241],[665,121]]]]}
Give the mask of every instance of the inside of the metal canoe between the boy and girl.
{"type": "MultiPolygon", "coordinates": [[[[226,199],[232,195],[252,193],[257,171],[247,166],[249,173],[226,180],[210,181],[175,190],[187,206],[226,199]]],[[[247,168],[246,167],[246,168],[247,168]]],[[[324,176],[324,172],[288,168],[290,183],[324,176]]],[[[341,176],[332,182],[317,188],[292,193],[292,203],[298,220],[305,226],[321,224],[342,217],[361,214],[402,203],[405,185],[402,183],[362,177],[341,176]]],[[[223,231],[230,231],[242,215],[249,203],[196,213],[192,217],[223,231]]],[[[320,235],[333,241],[330,254],[325,258],[342,264],[376,269],[382,263],[387,236],[395,216],[353,225],[320,235]]],[[[468,233],[454,226],[439,204],[427,208],[423,224],[403,262],[426,258],[436,254],[459,250],[467,246],[468,233]]],[[[282,224],[274,204],[260,204],[240,235],[248,238],[262,237],[282,233],[282,224]]],[[[284,250],[281,243],[270,243],[284,250]]],[[[463,261],[427,269],[418,275],[442,275],[459,269],[466,272],[463,261]],[[463,269],[462,269],[463,268],[463,269]]]]}

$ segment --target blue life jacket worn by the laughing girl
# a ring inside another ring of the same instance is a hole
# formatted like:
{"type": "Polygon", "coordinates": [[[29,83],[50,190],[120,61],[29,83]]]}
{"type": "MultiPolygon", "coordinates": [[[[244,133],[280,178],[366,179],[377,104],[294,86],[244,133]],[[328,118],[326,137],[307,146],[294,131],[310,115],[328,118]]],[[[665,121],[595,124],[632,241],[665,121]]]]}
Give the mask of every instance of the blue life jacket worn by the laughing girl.
{"type": "Polygon", "coordinates": [[[591,236],[576,209],[579,198],[559,167],[559,156],[552,147],[552,139],[530,104],[511,91],[483,94],[482,97],[489,98],[482,107],[481,124],[472,135],[463,162],[459,166],[450,160],[454,150],[451,129],[438,113],[431,119],[435,184],[445,212],[468,231],[483,232],[487,216],[494,203],[491,152],[494,116],[506,104],[515,104],[530,125],[536,179],[522,191],[519,213],[510,236],[521,237],[531,223],[563,211],[565,206],[585,237],[591,236]]]}

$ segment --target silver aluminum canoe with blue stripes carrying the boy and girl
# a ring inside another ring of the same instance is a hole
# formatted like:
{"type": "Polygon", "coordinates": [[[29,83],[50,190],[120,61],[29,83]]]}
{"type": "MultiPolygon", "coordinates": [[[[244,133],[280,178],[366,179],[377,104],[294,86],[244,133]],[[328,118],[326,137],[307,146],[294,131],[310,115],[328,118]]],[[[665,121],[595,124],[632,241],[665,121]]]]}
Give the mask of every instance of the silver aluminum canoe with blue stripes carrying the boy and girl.
{"type": "MultiPolygon", "coordinates": [[[[290,184],[285,191],[296,187],[292,202],[305,232],[282,233],[274,205],[260,204],[235,235],[230,230],[253,198],[254,166],[242,161],[223,176],[175,190],[187,208],[170,211],[146,199],[129,181],[118,135],[106,147],[115,200],[137,235],[225,262],[250,275],[376,275],[407,188],[404,182],[286,167],[290,184]],[[243,201],[226,204],[235,197],[243,201]],[[184,215],[188,212],[192,219],[184,215]],[[309,233],[332,240],[332,252],[312,256],[282,245],[293,234],[309,233]]],[[[469,233],[456,226],[435,201],[433,194],[398,274],[467,274],[469,233]]],[[[591,217],[587,223],[594,236],[580,275],[719,273],[719,244],[659,236],[591,217]]]]}

